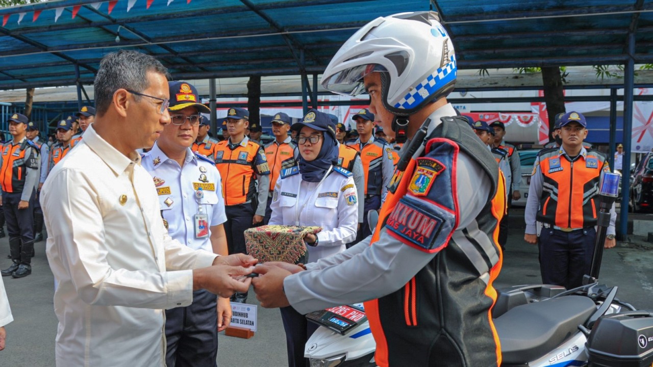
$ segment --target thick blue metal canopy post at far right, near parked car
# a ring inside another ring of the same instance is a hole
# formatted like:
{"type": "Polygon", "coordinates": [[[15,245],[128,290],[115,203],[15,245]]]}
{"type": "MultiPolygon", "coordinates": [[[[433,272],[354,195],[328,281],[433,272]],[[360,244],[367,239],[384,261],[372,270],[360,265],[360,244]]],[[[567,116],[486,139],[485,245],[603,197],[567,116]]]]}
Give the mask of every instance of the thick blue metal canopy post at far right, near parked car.
{"type": "Polygon", "coordinates": [[[619,213],[620,240],[628,234],[628,203],[630,187],[630,152],[633,135],[633,84],[635,83],[635,33],[628,33],[628,59],[624,69],[624,165],[621,171],[621,211],[619,213]]]}

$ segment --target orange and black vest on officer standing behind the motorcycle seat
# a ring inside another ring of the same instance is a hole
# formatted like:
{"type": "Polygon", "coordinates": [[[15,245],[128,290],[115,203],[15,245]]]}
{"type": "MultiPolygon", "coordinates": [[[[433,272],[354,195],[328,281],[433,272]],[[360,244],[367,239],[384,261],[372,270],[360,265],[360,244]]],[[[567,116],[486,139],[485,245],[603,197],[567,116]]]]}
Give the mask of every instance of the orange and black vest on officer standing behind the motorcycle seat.
{"type": "Polygon", "coordinates": [[[601,172],[609,172],[607,157],[589,149],[572,162],[560,148],[539,153],[543,175],[537,220],[561,228],[594,227],[599,211],[601,172]]]}

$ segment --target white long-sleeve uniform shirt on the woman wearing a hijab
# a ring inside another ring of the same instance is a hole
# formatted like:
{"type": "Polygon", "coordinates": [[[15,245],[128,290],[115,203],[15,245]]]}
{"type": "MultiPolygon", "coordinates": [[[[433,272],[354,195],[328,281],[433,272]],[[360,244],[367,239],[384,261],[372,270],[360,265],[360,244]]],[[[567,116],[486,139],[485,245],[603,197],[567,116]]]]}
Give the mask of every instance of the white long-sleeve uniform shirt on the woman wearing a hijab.
{"type": "Polygon", "coordinates": [[[269,225],[322,227],[317,246],[307,246],[309,262],[344,251],[356,238],[358,197],[351,175],[332,170],[319,184],[302,180],[296,167],[281,170],[270,208],[269,225]],[[291,171],[296,173],[289,175],[291,171]]]}

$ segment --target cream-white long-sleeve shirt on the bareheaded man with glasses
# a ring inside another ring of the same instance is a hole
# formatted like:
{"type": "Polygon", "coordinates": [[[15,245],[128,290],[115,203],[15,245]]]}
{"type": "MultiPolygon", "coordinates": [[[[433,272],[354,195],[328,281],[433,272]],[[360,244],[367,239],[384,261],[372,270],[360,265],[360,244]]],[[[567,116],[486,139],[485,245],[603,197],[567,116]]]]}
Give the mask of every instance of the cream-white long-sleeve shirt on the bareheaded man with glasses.
{"type": "Polygon", "coordinates": [[[215,259],[168,236],[152,178],[130,158],[91,125],[43,185],[57,366],[164,366],[163,309],[191,304],[191,269],[215,259]]]}

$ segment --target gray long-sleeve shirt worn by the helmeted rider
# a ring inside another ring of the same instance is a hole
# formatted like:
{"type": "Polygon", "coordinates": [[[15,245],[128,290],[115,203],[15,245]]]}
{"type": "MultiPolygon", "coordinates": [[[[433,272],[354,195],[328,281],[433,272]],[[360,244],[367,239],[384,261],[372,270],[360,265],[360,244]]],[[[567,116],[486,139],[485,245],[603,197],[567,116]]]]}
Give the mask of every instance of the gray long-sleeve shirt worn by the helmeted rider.
{"type": "MultiPolygon", "coordinates": [[[[456,112],[447,104],[431,114],[429,131],[435,129],[443,116],[456,112]]],[[[417,156],[422,150],[418,150],[417,156]]],[[[488,152],[489,154],[489,152],[488,152]]],[[[465,236],[463,229],[478,215],[489,195],[490,178],[465,153],[458,155],[456,189],[458,227],[453,238],[465,236]]],[[[447,236],[447,234],[440,234],[447,236]]],[[[307,264],[310,271],[298,272],[285,278],[285,294],[295,310],[301,313],[320,310],[351,302],[379,298],[406,284],[437,255],[425,253],[403,244],[381,229],[379,240],[370,246],[371,236],[342,253],[307,264]]]]}

